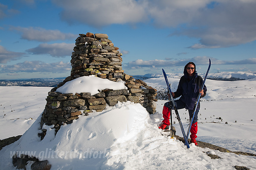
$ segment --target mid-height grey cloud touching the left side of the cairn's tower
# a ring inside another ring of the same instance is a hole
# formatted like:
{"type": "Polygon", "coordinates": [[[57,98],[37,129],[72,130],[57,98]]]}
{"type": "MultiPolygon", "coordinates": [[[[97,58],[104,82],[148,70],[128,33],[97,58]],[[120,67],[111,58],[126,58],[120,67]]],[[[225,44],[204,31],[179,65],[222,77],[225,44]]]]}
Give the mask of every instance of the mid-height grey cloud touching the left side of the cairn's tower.
{"type": "Polygon", "coordinates": [[[39,44],[39,46],[27,49],[26,52],[32,54],[47,54],[52,57],[66,57],[72,55],[74,44],[68,43],[53,43],[53,44],[39,44]]]}

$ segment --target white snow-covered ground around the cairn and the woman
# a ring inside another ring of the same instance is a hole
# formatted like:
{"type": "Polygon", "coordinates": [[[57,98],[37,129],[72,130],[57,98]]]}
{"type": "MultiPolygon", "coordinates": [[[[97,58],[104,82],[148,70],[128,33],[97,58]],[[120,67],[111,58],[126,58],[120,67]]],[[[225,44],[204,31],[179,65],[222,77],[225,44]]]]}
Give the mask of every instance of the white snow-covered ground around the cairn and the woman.
{"type": "MultiPolygon", "coordinates": [[[[145,80],[155,88],[165,88],[163,81],[163,77],[145,80]]],[[[179,77],[170,75],[169,82],[175,91],[179,77]]],[[[198,140],[231,151],[256,154],[256,79],[207,80],[206,86],[207,95],[201,101],[198,115],[198,140]],[[219,117],[222,121],[216,119],[219,117]]],[[[157,113],[150,116],[140,104],[128,101],[89,116],[80,115],[72,124],[62,126],[56,136],[51,127],[45,126],[47,135],[40,141],[39,121],[50,90],[49,87],[0,87],[0,139],[26,132],[20,140],[0,151],[0,169],[16,169],[11,154],[19,151],[33,152],[40,160],[48,160],[52,169],[226,170],[235,169],[236,165],[256,169],[255,157],[222,153],[194,144],[187,149],[182,142],[162,136],[158,124],[162,120],[164,100],[157,102],[157,113]],[[206,153],[221,159],[211,159],[206,153]]],[[[187,131],[188,112],[182,109],[179,113],[187,131]]],[[[176,134],[182,136],[175,114],[173,121],[176,134]]]]}

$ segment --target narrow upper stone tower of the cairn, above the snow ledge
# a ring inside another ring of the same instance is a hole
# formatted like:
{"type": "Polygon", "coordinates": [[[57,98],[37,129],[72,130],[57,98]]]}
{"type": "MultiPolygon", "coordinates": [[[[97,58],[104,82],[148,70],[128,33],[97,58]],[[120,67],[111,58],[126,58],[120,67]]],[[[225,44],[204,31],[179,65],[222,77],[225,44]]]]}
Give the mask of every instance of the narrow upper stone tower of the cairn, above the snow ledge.
{"type": "Polygon", "coordinates": [[[71,56],[71,74],[67,81],[81,76],[97,75],[102,79],[123,78],[122,54],[107,34],[79,34],[71,56]]]}

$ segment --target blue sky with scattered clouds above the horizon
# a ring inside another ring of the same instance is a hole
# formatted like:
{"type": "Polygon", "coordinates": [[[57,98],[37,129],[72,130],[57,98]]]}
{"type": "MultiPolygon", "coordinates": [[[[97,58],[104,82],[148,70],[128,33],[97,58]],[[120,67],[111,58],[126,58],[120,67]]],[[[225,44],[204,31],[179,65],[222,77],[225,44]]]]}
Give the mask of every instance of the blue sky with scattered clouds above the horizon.
{"type": "Polygon", "coordinates": [[[0,79],[70,75],[79,34],[103,33],[126,74],[256,73],[255,0],[2,0],[0,79]]]}

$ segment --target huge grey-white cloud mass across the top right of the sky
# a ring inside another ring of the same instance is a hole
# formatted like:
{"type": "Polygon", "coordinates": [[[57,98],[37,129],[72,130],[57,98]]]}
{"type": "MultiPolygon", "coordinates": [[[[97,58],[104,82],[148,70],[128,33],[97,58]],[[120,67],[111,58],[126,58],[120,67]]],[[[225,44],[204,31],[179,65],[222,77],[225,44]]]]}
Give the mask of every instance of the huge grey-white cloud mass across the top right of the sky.
{"type": "Polygon", "coordinates": [[[170,35],[200,40],[190,46],[193,49],[229,47],[256,40],[253,0],[52,1],[63,8],[61,17],[69,23],[102,27],[147,22],[159,28],[176,28],[170,35]]]}

